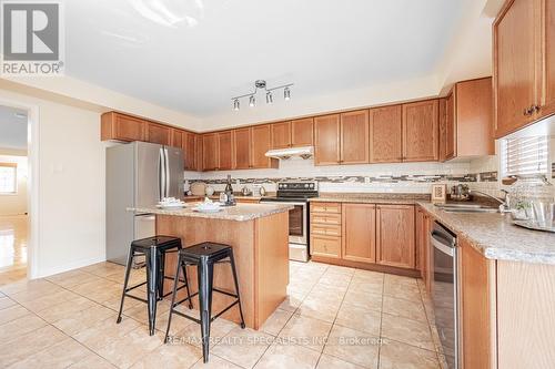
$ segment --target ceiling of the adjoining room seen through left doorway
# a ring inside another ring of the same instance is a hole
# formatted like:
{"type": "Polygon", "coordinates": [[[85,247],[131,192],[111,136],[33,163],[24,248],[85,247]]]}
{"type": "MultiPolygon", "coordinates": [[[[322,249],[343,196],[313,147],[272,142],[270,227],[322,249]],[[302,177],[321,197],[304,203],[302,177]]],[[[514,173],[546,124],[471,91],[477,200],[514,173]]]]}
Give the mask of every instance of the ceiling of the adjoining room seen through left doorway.
{"type": "Polygon", "coordinates": [[[27,148],[26,111],[0,105],[0,148],[27,148]]]}

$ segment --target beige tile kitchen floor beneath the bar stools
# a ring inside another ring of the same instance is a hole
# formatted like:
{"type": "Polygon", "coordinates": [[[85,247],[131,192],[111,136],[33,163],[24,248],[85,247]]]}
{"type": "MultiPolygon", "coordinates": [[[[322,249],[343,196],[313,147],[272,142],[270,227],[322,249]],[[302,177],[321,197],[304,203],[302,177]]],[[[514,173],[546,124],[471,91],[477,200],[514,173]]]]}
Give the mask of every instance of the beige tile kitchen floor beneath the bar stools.
{"type": "Polygon", "coordinates": [[[440,367],[417,279],[291,263],[289,297],[262,329],[215,320],[203,365],[196,324],[176,317],[163,345],[168,301],[153,337],[145,306],[132,299],[115,325],[122,270],[101,263],[0,286],[0,368],[440,367]]]}

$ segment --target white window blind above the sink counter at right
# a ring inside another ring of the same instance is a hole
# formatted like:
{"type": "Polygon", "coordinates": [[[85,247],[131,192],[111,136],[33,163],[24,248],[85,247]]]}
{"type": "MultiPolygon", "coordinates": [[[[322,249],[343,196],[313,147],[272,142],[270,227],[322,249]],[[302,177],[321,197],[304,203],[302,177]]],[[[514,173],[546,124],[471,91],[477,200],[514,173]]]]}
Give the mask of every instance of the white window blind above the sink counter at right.
{"type": "Polygon", "coordinates": [[[546,174],[548,136],[505,140],[505,175],[546,174]]]}

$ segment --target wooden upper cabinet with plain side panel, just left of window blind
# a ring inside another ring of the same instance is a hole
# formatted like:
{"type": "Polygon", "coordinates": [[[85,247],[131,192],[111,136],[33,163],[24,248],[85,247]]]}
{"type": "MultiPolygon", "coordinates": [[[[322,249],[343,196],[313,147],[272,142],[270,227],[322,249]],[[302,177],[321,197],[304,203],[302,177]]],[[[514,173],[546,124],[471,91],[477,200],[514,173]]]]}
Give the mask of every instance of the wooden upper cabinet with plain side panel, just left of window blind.
{"type": "Polygon", "coordinates": [[[440,158],[495,154],[492,79],[458,82],[440,103],[440,158]]]}

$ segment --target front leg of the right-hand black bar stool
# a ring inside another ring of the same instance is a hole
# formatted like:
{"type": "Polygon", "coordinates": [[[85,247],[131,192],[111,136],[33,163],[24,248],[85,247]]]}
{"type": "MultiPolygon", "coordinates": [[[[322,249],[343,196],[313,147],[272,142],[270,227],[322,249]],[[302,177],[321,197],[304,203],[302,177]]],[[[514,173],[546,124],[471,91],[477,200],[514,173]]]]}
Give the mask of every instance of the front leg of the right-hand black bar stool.
{"type": "Polygon", "coordinates": [[[208,362],[210,349],[210,319],[212,316],[212,283],[214,265],[201,259],[199,263],[199,301],[201,312],[202,360],[208,362]]]}

